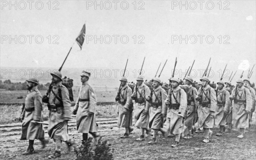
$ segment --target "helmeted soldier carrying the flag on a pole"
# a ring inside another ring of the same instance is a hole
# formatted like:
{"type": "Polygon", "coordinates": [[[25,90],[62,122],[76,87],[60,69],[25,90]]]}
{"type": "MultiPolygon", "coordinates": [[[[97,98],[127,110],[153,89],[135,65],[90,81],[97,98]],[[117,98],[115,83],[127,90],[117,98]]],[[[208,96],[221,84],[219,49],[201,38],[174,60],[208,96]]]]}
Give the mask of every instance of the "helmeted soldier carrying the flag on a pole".
{"type": "Polygon", "coordinates": [[[52,85],[49,90],[49,126],[48,134],[55,142],[55,152],[49,155],[49,159],[61,156],[61,143],[64,141],[68,148],[72,145],[69,141],[67,121],[71,119],[70,99],[67,88],[61,84],[61,73],[54,71],[52,85]]]}

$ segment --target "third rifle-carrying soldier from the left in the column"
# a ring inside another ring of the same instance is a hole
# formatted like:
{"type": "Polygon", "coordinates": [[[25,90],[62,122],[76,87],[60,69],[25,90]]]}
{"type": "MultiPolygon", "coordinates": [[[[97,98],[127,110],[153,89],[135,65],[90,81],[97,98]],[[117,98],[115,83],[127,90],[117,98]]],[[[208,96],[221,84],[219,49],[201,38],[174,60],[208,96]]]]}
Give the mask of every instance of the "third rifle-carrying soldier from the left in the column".
{"type": "MultiPolygon", "coordinates": [[[[149,113],[149,128],[153,129],[153,138],[148,144],[155,144],[157,142],[157,132],[161,131],[163,136],[165,131],[163,130],[163,122],[166,119],[167,108],[164,103],[166,99],[166,91],[161,87],[161,80],[159,78],[153,79],[153,88],[150,96],[146,98],[147,102],[150,102],[150,113],[149,113]]],[[[146,106],[148,111],[149,106],[146,106]]]]}

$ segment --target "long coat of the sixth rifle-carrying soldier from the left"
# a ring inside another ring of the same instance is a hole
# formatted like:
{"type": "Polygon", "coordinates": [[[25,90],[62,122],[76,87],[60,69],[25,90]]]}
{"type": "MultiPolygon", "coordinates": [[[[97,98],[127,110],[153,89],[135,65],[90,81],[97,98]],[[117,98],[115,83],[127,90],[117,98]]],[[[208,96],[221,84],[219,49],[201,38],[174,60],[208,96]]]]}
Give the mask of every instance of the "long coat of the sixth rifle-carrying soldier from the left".
{"type": "Polygon", "coordinates": [[[203,89],[199,88],[198,96],[201,97],[202,101],[209,103],[207,106],[200,104],[198,107],[198,126],[201,130],[203,128],[213,128],[214,112],[217,111],[217,97],[215,90],[207,85],[203,89]]]}

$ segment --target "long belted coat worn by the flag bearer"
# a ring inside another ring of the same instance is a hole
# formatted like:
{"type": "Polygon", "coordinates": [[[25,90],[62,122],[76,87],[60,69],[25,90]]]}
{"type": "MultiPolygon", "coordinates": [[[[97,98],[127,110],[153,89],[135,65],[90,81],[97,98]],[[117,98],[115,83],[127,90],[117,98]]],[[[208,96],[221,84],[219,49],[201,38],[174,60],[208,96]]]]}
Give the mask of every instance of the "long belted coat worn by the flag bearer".
{"type": "Polygon", "coordinates": [[[61,105],[61,102],[52,92],[61,98],[63,105],[57,108],[57,111],[50,109],[48,134],[54,140],[67,141],[69,140],[67,121],[71,119],[69,92],[61,82],[53,84],[49,93],[49,104],[55,105],[61,105]]]}

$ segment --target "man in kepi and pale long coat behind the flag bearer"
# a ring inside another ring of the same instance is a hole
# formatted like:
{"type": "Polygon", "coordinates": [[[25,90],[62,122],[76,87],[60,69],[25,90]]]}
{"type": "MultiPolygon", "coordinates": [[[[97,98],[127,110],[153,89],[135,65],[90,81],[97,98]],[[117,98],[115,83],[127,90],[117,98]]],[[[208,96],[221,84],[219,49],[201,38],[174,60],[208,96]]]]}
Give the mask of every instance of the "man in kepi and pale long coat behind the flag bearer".
{"type": "Polygon", "coordinates": [[[74,106],[73,114],[76,115],[76,128],[82,133],[82,145],[87,142],[88,133],[93,135],[94,140],[101,138],[97,131],[96,115],[94,113],[97,105],[96,95],[93,88],[88,84],[90,73],[82,71],[82,86],[79,89],[79,96],[74,106]]]}

